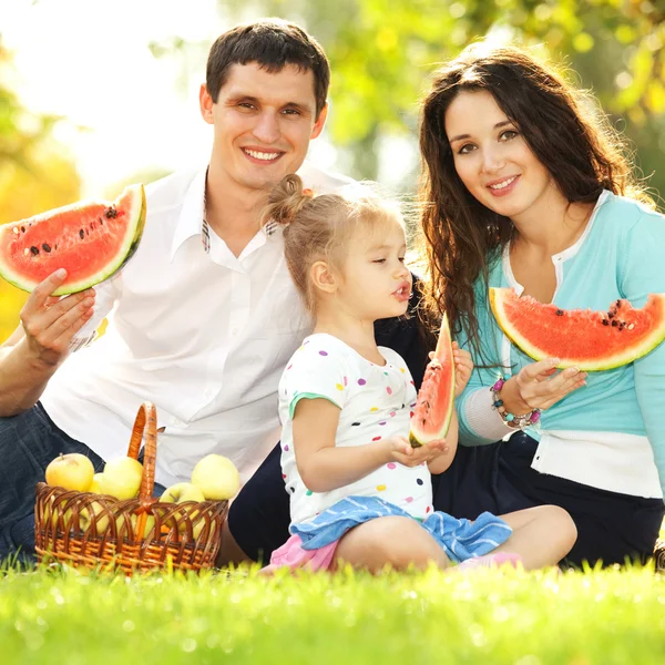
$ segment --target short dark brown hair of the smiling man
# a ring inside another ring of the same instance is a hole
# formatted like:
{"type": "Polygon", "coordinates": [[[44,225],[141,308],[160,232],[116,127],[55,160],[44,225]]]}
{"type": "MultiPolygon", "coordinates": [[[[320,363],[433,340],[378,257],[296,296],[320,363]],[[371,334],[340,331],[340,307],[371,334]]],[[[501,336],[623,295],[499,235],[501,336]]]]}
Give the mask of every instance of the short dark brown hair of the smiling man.
{"type": "Polygon", "coordinates": [[[206,68],[207,91],[215,102],[231,66],[249,62],[269,73],[280,72],[288,64],[311,71],[318,117],[328,96],[330,64],[321,45],[305,30],[282,19],[262,19],[221,34],[211,48],[206,68]]]}

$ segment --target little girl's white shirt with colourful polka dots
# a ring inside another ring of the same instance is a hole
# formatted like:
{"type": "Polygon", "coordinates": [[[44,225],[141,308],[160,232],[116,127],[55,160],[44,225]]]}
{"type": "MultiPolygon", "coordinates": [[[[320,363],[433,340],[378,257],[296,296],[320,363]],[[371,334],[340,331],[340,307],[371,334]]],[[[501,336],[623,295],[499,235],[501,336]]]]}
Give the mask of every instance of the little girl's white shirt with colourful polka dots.
{"type": "Polygon", "coordinates": [[[341,409],[335,446],[365,446],[392,434],[408,437],[416,405],[413,380],[402,358],[379,347],[386,365],[370,362],[340,339],[307,337],[293,355],[279,382],[282,470],[290,495],[291,522],[314,518],[340,499],[380,497],[416,518],[432,512],[431,477],[426,464],[383,464],[365,478],[330,492],[308,490],[296,467],[293,415],[300,399],[324,398],[341,409]]]}

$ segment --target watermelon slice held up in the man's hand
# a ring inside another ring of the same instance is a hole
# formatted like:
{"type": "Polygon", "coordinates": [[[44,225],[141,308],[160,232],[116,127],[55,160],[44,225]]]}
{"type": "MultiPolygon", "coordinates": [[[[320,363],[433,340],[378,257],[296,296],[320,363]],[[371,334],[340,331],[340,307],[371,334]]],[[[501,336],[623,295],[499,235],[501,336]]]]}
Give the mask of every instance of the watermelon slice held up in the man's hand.
{"type": "Polygon", "coordinates": [[[114,201],[82,201],[0,226],[0,275],[19,288],[34,287],[59,268],[63,296],[111,277],[133,256],[145,224],[143,185],[114,201]]]}

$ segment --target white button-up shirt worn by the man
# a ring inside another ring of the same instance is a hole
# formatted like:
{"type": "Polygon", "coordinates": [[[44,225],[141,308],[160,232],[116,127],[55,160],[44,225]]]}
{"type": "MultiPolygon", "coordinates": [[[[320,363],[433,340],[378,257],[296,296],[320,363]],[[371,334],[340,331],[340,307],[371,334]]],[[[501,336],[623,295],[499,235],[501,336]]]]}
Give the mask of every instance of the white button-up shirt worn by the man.
{"type": "MultiPolygon", "coordinates": [[[[310,165],[316,193],[352,181],[310,165]]],[[[311,321],[283,254],[282,228],[259,231],[236,257],[209,232],[202,243],[205,170],[146,188],[147,221],[136,255],[96,287],[85,337],[49,381],[42,405],[53,422],[103,459],[126,454],[141,402],[157,409],[155,480],[188,480],[211,452],[246,480],[279,438],[277,385],[311,321]],[[111,314],[110,314],[111,313],[111,314]]]]}

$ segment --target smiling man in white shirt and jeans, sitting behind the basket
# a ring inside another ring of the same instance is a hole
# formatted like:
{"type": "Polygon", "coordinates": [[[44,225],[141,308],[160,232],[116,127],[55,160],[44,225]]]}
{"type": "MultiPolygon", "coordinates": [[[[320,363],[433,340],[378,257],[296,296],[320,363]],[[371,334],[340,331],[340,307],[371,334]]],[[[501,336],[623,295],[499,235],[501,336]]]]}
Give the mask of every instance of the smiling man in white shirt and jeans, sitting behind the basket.
{"type": "MultiPolygon", "coordinates": [[[[326,121],[328,84],[320,45],[297,25],[265,20],[222,34],[200,94],[214,129],[207,167],[147,187],[143,238],[115,278],[57,300],[57,273],[30,296],[0,348],[0,559],[33,551],[34,485],[47,464],[82,452],[99,471],[126,454],[144,400],[157,408],[157,492],[187,480],[211,452],[231,458],[246,481],[274,448],[279,376],[309,318],[284,265],[282,231],[260,226],[262,209],[288,173],[319,192],[351,182],[303,167],[326,121]],[[105,335],[89,344],[110,311],[105,335]]],[[[270,469],[272,494],[254,483],[234,510],[238,524],[255,516],[243,505],[276,493],[288,510],[270,469]]],[[[226,530],[221,562],[267,549],[264,535],[256,545],[241,535],[238,548],[226,530]]]]}

